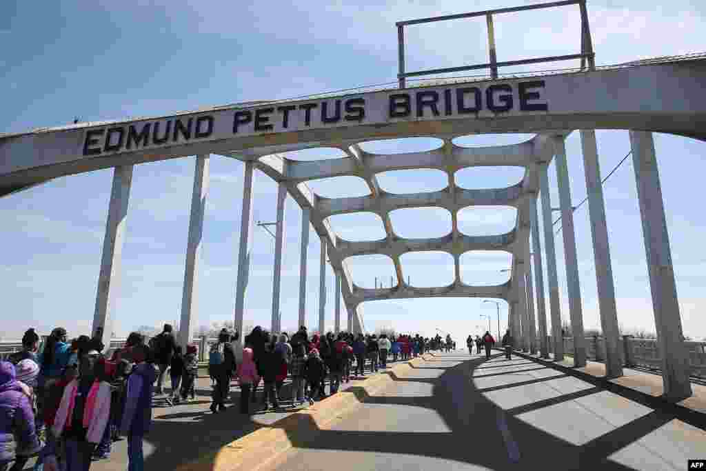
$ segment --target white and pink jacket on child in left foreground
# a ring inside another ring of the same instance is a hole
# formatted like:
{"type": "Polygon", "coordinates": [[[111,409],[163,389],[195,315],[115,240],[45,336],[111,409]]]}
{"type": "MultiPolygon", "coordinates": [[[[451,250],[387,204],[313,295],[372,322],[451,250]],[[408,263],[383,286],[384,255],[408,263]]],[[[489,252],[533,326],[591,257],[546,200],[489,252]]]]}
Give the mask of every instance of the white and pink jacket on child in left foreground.
{"type": "MultiPolygon", "coordinates": [[[[67,425],[71,424],[69,417],[73,416],[73,405],[76,403],[76,379],[66,385],[64,395],[61,396],[61,405],[56,411],[54,436],[61,435],[67,425]]],[[[83,412],[83,427],[86,427],[86,441],[100,443],[105,427],[110,417],[110,384],[105,381],[95,381],[88,391],[85,410],[83,412]]]]}

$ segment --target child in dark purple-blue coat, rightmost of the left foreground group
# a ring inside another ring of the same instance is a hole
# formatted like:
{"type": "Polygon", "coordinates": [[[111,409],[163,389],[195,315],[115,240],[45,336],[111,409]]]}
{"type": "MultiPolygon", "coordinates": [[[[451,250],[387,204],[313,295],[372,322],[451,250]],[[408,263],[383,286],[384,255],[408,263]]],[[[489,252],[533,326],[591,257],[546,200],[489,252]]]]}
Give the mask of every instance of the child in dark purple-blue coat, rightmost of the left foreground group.
{"type": "Polygon", "coordinates": [[[142,471],[145,467],[142,441],[152,424],[152,383],[157,379],[155,367],[145,362],[149,357],[147,345],[136,347],[133,352],[135,366],[128,378],[120,426],[121,434],[128,437],[128,471],[142,471]]]}

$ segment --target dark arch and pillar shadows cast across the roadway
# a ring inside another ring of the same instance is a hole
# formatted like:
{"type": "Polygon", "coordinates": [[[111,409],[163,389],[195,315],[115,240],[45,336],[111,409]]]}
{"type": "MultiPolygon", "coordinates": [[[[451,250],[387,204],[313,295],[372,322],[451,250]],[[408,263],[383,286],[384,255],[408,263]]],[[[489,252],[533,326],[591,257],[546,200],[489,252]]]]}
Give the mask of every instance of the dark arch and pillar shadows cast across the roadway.
{"type": "MultiPolygon", "coordinates": [[[[528,384],[542,383],[568,376],[562,371],[555,370],[553,376],[546,378],[533,378],[509,382],[501,386],[477,388],[474,378],[487,376],[517,376],[518,371],[534,371],[537,369],[551,370],[551,366],[542,368],[527,368],[538,365],[535,362],[517,362],[503,364],[500,360],[503,354],[493,354],[490,360],[485,357],[471,358],[467,354],[443,354],[442,357],[426,360],[425,364],[431,366],[414,366],[414,369],[443,370],[437,378],[400,377],[393,371],[385,371],[395,382],[430,383],[433,385],[431,396],[395,396],[395,395],[368,395],[360,386],[351,386],[348,391],[354,393],[361,403],[383,405],[409,405],[425,407],[434,410],[442,417],[450,429],[446,433],[417,433],[399,431],[348,431],[335,429],[317,429],[316,424],[308,415],[302,417],[306,424],[305,430],[315,430],[311,434],[287,431],[292,446],[301,450],[333,450],[333,451],[359,451],[367,453],[400,453],[404,455],[422,455],[433,458],[456,460],[460,463],[480,465],[494,470],[504,470],[510,467],[523,469],[547,470],[632,470],[633,468],[609,460],[609,456],[616,451],[638,441],[642,437],[659,429],[673,419],[705,429],[704,417],[685,415],[686,412],[661,407],[652,410],[628,422],[622,427],[614,427],[611,431],[595,439],[575,445],[554,436],[542,429],[533,427],[523,422],[517,416],[526,412],[565,403],[566,401],[586,397],[604,390],[601,384],[572,393],[558,395],[554,398],[535,401],[503,410],[491,400],[486,398],[489,391],[516,388],[528,384]],[[438,366],[433,364],[439,363],[438,366]],[[441,363],[446,363],[441,365],[441,363]],[[452,364],[450,364],[452,363],[452,364]],[[508,369],[497,371],[505,366],[520,366],[521,370],[508,369]],[[484,374],[483,370],[493,369],[492,373],[484,374]],[[474,372],[481,373],[474,376],[474,372]],[[511,431],[515,443],[519,444],[520,459],[515,460],[508,454],[508,446],[503,438],[503,433],[498,424],[505,422],[511,431]]],[[[525,376],[526,378],[526,376],[525,376]]],[[[621,394],[620,390],[611,390],[621,394]]],[[[621,394],[623,395],[623,394],[621,394]]],[[[642,403],[640,398],[626,393],[623,395],[630,400],[642,403]]],[[[285,397],[288,397],[285,395],[285,397]]],[[[234,394],[237,403],[237,393],[234,394]]],[[[352,412],[354,414],[355,412],[352,412]]],[[[145,460],[145,469],[171,469],[177,465],[188,463],[200,456],[217,451],[222,446],[241,436],[263,427],[253,421],[253,417],[237,413],[237,407],[220,414],[201,412],[188,412],[167,415],[164,418],[191,418],[191,421],[157,421],[153,424],[153,433],[149,440],[155,446],[155,451],[145,460]]],[[[566,417],[567,421],[572,417],[566,417]]],[[[274,422],[270,427],[278,427],[279,422],[274,422]]],[[[580,427],[580,424],[577,424],[580,427]]],[[[287,429],[288,430],[288,429],[287,429]]],[[[686,458],[685,464],[686,464],[686,458]]],[[[698,457],[689,457],[698,458],[698,457]]],[[[335,467],[335,463],[331,463],[335,467]]]]}

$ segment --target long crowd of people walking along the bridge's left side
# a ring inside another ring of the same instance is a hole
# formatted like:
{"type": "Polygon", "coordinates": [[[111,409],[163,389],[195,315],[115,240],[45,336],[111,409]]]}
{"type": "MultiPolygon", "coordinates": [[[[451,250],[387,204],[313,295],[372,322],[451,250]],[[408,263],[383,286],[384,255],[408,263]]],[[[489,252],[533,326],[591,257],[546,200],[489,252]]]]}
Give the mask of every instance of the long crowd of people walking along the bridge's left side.
{"type": "MultiPolygon", "coordinates": [[[[450,336],[309,335],[304,326],[291,337],[258,326],[242,347],[236,343],[239,337],[223,329],[208,352],[213,413],[227,410],[234,380],[240,388],[239,412],[251,414],[258,403],[264,411],[282,402],[313,404],[336,394],[351,378],[385,369],[388,361],[455,348],[450,336]],[[285,398],[288,377],[292,387],[285,398]]],[[[59,327],[40,352],[40,337],[29,329],[22,350],[0,362],[0,471],[22,470],[32,457],[37,458],[35,471],[88,471],[93,460],[107,458],[112,443],[122,439],[127,439],[128,471],[143,470],[152,401],[164,395],[167,374],[170,404],[194,399],[198,349],[177,345],[169,324],[149,341],[133,332],[114,351],[106,351],[101,339],[100,328],[93,338],[68,340],[66,329],[59,327]]]]}

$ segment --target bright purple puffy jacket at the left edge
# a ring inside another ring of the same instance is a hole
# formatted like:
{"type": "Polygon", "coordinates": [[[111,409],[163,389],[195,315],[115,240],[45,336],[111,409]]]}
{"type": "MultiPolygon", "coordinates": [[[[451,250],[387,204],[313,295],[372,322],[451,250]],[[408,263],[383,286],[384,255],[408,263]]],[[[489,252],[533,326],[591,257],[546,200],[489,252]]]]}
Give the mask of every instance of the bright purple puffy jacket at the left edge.
{"type": "Polygon", "coordinates": [[[17,454],[32,455],[40,448],[30,398],[15,378],[15,366],[0,362],[0,463],[14,460],[17,454]]]}

